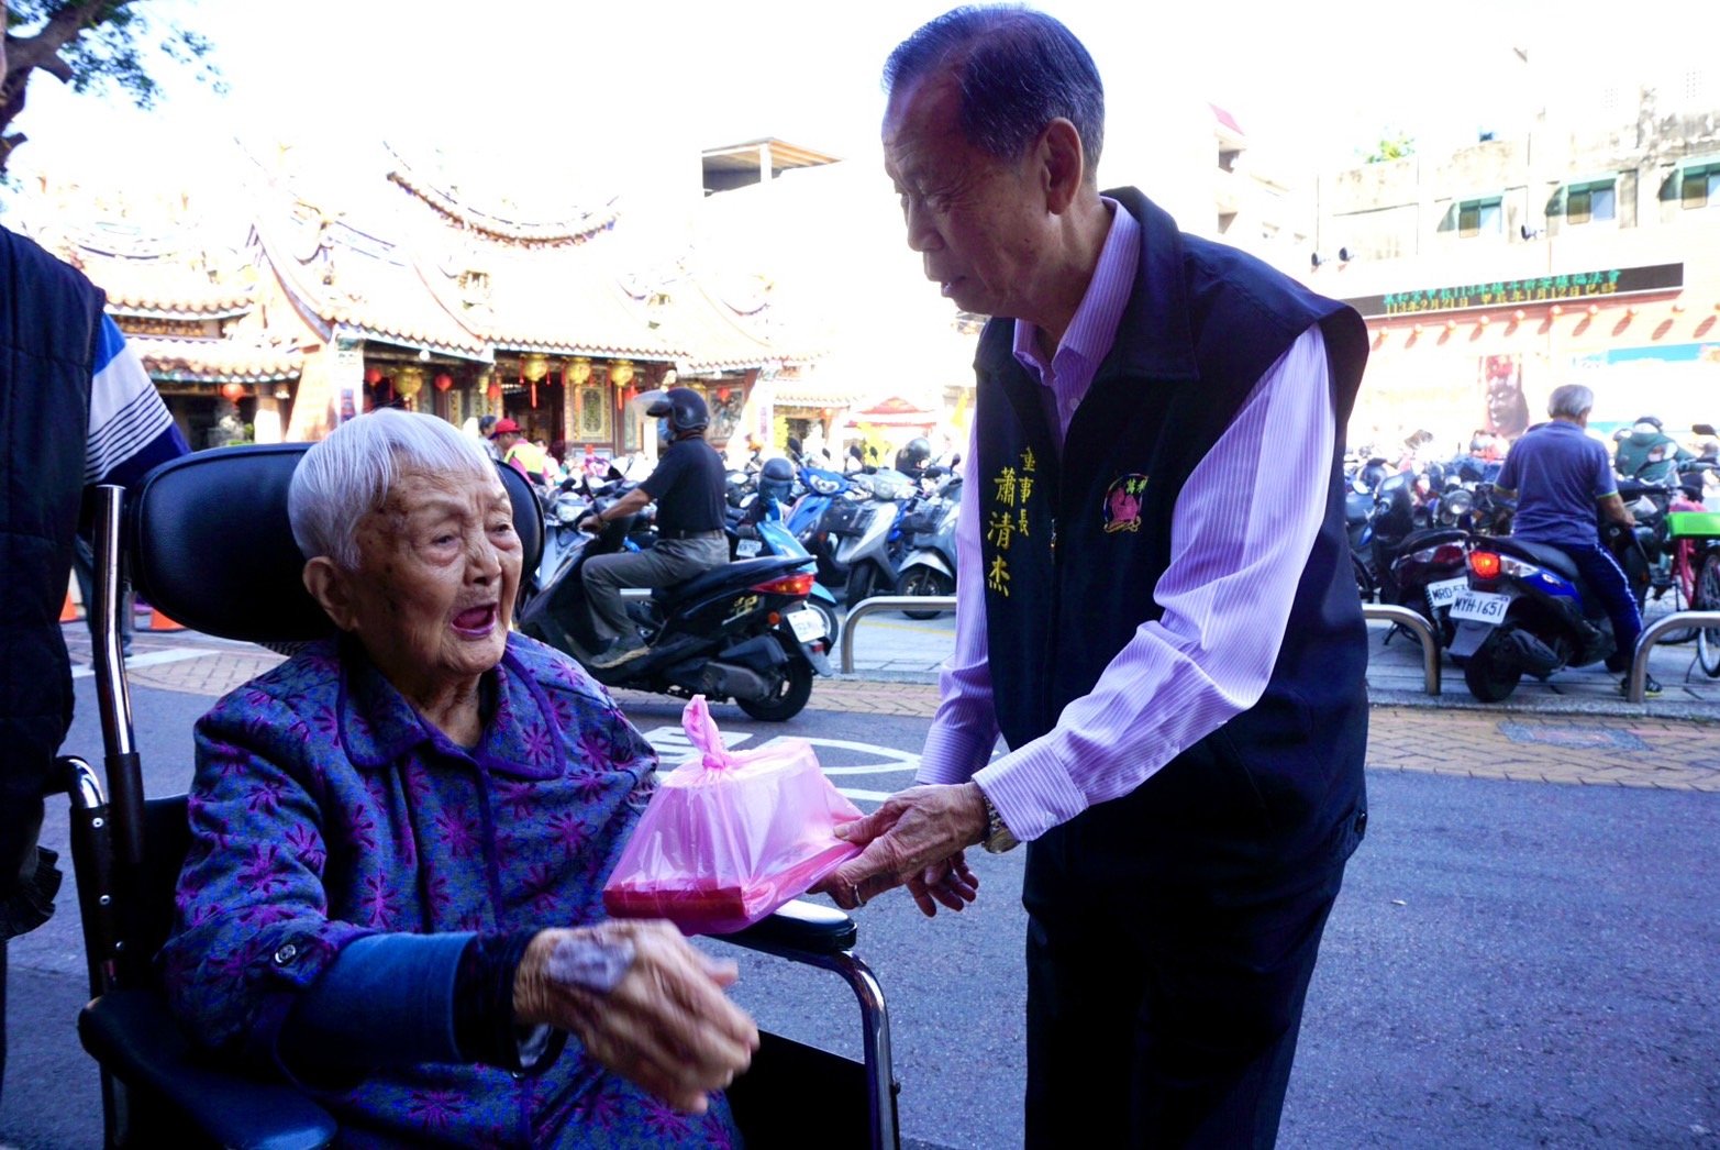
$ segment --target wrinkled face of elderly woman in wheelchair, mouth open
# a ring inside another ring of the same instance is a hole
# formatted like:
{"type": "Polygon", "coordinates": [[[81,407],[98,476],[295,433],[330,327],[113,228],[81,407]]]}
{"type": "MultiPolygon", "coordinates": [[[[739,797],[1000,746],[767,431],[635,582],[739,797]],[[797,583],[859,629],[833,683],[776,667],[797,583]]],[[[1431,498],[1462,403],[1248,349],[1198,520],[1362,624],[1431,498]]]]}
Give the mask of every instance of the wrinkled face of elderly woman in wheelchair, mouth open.
{"type": "Polygon", "coordinates": [[[501,479],[408,472],[358,523],[353,630],[408,697],[502,659],[523,547],[501,479]]]}

